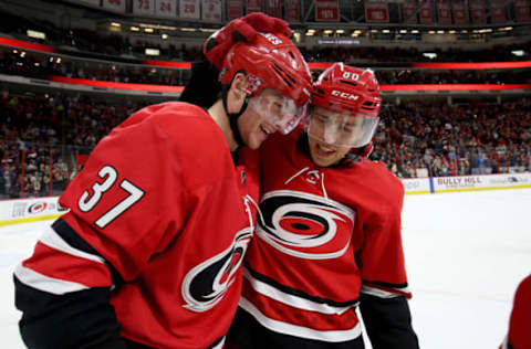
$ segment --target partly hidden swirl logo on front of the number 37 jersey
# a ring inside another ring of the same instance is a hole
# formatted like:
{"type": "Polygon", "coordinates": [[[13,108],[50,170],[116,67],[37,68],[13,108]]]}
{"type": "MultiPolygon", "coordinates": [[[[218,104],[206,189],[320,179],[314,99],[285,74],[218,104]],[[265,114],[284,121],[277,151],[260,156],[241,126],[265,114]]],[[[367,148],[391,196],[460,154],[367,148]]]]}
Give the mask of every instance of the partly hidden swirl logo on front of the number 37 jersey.
{"type": "Polygon", "coordinates": [[[223,298],[235,281],[247,246],[252,237],[250,228],[236,234],[232,245],[220,254],[195,266],[186,274],[181,286],[185,308],[206,311],[223,298]]]}

